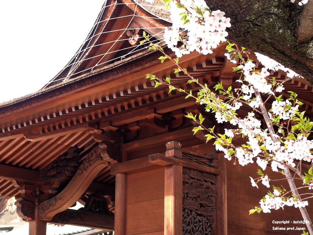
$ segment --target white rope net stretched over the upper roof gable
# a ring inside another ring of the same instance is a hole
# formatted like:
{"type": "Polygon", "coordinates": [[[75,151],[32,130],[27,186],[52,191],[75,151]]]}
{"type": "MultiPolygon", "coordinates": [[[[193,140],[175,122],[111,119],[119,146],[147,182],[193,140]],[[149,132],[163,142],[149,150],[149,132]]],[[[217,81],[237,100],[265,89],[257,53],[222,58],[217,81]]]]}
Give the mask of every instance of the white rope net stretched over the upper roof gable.
{"type": "Polygon", "coordinates": [[[68,64],[44,88],[93,73],[146,51],[149,42],[140,44],[143,31],[151,41],[163,43],[170,26],[168,12],[159,0],[107,0],[87,38],[68,64]],[[162,15],[162,16],[159,16],[162,15]]]}

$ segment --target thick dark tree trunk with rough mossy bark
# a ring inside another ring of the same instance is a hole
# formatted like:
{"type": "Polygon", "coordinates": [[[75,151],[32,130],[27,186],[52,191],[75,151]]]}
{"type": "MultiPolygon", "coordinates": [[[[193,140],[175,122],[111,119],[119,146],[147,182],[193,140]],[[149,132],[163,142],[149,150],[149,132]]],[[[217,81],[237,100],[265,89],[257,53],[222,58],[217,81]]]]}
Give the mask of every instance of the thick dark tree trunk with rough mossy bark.
{"type": "Polygon", "coordinates": [[[313,1],[205,0],[231,18],[228,40],[267,55],[313,84],[313,1]]]}

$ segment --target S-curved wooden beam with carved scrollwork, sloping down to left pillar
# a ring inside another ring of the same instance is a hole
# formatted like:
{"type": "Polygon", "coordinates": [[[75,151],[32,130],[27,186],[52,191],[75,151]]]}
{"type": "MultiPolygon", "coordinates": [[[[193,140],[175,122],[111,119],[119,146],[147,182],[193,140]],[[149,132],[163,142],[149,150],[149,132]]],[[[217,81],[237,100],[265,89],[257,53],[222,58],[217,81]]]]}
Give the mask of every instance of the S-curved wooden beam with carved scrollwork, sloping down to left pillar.
{"type": "Polygon", "coordinates": [[[69,184],[58,195],[43,201],[38,206],[41,220],[52,220],[54,215],[72,206],[86,191],[98,173],[115,163],[110,158],[105,142],[99,143],[84,159],[69,184]]]}

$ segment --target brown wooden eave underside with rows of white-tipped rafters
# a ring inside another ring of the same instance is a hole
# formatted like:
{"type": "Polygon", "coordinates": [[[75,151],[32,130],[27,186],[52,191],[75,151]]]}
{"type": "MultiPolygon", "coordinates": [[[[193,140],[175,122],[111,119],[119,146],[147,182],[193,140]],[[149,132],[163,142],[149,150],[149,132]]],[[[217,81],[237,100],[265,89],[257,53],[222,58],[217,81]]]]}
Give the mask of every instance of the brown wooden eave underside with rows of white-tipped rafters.
{"type": "MultiPolygon", "coordinates": [[[[219,48],[212,55],[204,57],[192,54],[181,61],[192,76],[213,86],[223,72],[225,65],[223,53],[223,49],[219,48]]],[[[165,62],[149,68],[143,67],[142,70],[131,71],[129,74],[124,71],[121,76],[115,77],[114,81],[105,80],[98,86],[84,87],[77,89],[76,92],[64,94],[63,97],[55,97],[53,102],[48,100],[23,108],[20,112],[26,113],[24,122],[18,123],[19,119],[12,118],[19,116],[19,112],[1,118],[2,125],[3,120],[10,118],[15,124],[2,126],[4,132],[0,130],[0,163],[23,169],[40,170],[71,146],[84,147],[82,156],[88,152],[96,144],[91,130],[99,122],[110,122],[111,126],[119,127],[145,119],[145,112],[148,109],[163,114],[191,106],[193,101],[185,100],[179,92],[167,94],[168,88],[165,86],[154,89],[153,81],[144,78],[145,74],[152,70],[151,73],[158,77],[170,75],[173,84],[181,84],[185,89],[197,90],[194,84],[186,87],[185,83],[189,78],[183,73],[173,74],[172,69],[173,66],[165,62]],[[51,109],[55,112],[49,112],[51,109]],[[28,113],[31,115],[27,115],[28,113]],[[42,113],[45,113],[45,116],[40,116],[42,113]],[[25,138],[28,134],[31,136],[31,141],[25,138]]],[[[239,75],[232,76],[235,81],[239,75]]],[[[272,76],[285,79],[283,73],[279,72],[273,73],[272,76]]],[[[236,83],[232,85],[236,87],[236,83]]],[[[298,93],[298,99],[305,103],[302,109],[306,109],[310,117],[313,116],[312,89],[312,86],[302,79],[285,83],[285,91],[292,90],[298,93]]],[[[157,136],[153,137],[151,141],[157,142],[157,138],[157,136]]],[[[149,141],[147,143],[151,142],[149,141]]],[[[136,146],[137,141],[133,144],[124,144],[122,150],[132,151],[136,146]]],[[[142,148],[146,147],[142,146],[142,148]]],[[[95,181],[112,184],[115,182],[115,177],[110,175],[109,168],[104,168],[95,181]]],[[[10,180],[1,179],[0,194],[18,196],[18,191],[10,180]]]]}

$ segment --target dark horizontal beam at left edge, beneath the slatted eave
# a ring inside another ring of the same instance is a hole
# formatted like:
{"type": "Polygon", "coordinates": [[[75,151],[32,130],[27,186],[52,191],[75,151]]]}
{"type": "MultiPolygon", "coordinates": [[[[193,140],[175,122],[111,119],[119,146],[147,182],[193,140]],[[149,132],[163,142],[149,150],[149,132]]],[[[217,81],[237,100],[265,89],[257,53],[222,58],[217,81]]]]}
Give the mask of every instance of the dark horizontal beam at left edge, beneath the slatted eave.
{"type": "Polygon", "coordinates": [[[0,179],[40,183],[39,171],[0,164],[0,179]]]}

